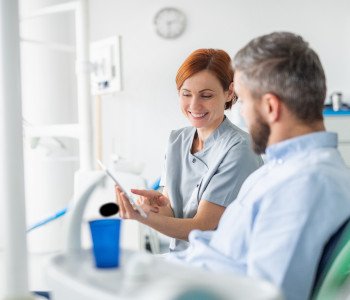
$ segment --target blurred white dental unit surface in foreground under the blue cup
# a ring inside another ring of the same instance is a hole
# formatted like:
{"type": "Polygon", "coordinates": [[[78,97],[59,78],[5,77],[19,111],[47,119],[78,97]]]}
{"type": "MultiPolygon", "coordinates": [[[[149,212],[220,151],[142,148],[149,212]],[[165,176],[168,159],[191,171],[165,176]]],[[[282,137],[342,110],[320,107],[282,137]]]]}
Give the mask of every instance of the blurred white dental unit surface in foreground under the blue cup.
{"type": "Polygon", "coordinates": [[[278,289],[264,281],[227,274],[214,277],[131,251],[122,252],[121,266],[115,269],[95,268],[90,250],[59,254],[49,261],[47,277],[53,300],[190,299],[198,292],[207,299],[283,299],[278,289]]]}

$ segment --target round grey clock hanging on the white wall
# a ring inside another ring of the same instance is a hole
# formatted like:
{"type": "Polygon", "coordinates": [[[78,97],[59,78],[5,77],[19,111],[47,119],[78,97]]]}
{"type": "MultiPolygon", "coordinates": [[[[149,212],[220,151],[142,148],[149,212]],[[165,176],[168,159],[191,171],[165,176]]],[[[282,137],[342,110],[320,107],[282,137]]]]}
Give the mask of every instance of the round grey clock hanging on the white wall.
{"type": "Polygon", "coordinates": [[[157,33],[166,39],[179,37],[186,27],[186,16],[177,8],[166,7],[154,17],[157,33]]]}

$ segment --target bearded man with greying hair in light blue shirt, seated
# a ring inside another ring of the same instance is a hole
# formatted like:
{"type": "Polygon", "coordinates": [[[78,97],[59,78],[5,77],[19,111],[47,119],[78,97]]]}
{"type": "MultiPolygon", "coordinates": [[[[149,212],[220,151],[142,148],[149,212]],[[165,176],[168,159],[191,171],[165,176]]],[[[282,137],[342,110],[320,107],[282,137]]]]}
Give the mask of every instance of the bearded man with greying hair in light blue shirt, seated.
{"type": "Polygon", "coordinates": [[[250,175],[216,231],[192,231],[173,259],[274,283],[307,299],[323,248],[350,216],[350,171],[325,131],[326,80],[297,35],[258,37],[234,58],[235,92],[253,147],[267,163],[250,175]]]}

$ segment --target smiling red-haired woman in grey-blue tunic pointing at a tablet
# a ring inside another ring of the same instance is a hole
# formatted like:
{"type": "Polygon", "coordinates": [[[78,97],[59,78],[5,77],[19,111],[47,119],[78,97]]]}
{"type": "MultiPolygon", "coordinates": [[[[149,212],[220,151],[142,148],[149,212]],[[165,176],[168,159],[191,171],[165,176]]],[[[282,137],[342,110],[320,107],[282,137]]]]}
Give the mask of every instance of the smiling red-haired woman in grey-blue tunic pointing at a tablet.
{"type": "Polygon", "coordinates": [[[172,237],[170,251],[184,250],[193,229],[214,230],[243,181],[262,165],[249,135],[224,114],[236,101],[233,69],[223,50],[199,49],[176,76],[182,113],[192,126],[170,134],[162,193],[131,190],[141,196],[143,218],[116,187],[120,216],[135,219],[172,237]]]}

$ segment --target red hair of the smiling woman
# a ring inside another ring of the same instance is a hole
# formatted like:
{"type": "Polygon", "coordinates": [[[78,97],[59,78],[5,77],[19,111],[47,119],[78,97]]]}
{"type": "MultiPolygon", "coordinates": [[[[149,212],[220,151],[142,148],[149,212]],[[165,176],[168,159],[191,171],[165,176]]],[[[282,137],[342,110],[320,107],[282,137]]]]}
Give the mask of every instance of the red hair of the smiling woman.
{"type": "MultiPolygon", "coordinates": [[[[203,70],[211,72],[220,81],[224,91],[228,91],[233,82],[231,58],[225,51],[217,49],[198,49],[186,58],[176,74],[177,90],[181,89],[187,78],[203,70]]],[[[225,109],[232,107],[233,100],[235,98],[226,102],[225,109]]]]}

